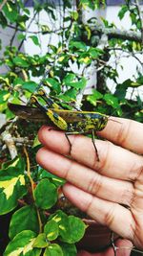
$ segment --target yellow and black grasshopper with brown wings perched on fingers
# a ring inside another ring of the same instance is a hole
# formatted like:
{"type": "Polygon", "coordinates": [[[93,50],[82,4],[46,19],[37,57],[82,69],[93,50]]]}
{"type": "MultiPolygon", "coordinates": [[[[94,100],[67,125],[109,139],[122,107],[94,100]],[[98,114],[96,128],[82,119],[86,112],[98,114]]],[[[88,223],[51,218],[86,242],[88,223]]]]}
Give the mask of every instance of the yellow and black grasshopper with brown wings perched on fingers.
{"type": "Polygon", "coordinates": [[[57,105],[52,99],[43,91],[39,90],[36,94],[31,96],[31,104],[37,106],[22,106],[9,104],[10,110],[16,115],[25,119],[38,119],[39,121],[47,121],[47,124],[53,128],[64,130],[66,138],[70,144],[70,152],[72,151],[72,143],[69,135],[72,134],[91,134],[92,145],[99,161],[98,151],[95,146],[95,132],[100,131],[106,127],[109,117],[105,114],[92,111],[78,111],[63,109],[57,105]],[[45,104],[41,103],[41,99],[45,104]]]}

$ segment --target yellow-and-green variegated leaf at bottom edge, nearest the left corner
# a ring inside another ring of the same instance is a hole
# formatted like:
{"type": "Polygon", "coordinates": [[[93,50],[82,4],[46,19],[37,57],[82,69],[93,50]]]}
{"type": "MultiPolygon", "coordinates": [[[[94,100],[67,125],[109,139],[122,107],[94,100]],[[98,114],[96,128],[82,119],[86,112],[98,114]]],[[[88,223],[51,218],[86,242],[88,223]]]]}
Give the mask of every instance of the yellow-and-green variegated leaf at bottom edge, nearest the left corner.
{"type": "Polygon", "coordinates": [[[41,249],[33,248],[36,234],[31,230],[24,230],[17,234],[8,244],[4,256],[39,256],[41,249]]]}

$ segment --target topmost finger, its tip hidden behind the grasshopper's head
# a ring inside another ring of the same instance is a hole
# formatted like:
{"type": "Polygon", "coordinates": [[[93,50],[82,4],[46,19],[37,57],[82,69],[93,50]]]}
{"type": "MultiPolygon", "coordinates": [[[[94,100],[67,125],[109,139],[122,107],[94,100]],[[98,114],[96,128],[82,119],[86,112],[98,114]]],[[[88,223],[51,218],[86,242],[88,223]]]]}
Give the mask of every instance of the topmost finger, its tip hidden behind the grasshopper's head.
{"type": "Polygon", "coordinates": [[[123,148],[143,153],[143,124],[141,123],[111,117],[106,128],[98,134],[123,148]]]}

